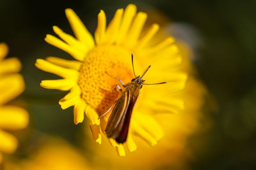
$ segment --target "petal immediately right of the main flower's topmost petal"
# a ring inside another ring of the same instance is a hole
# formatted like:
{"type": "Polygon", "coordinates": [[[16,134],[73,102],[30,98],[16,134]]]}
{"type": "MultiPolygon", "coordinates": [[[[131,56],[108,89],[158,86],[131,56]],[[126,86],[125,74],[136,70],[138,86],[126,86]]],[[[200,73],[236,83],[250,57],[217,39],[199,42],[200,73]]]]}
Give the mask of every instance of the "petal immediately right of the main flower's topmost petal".
{"type": "Polygon", "coordinates": [[[131,29],[125,38],[125,46],[131,48],[137,43],[140,32],[147,20],[147,13],[139,12],[134,18],[131,29]]]}

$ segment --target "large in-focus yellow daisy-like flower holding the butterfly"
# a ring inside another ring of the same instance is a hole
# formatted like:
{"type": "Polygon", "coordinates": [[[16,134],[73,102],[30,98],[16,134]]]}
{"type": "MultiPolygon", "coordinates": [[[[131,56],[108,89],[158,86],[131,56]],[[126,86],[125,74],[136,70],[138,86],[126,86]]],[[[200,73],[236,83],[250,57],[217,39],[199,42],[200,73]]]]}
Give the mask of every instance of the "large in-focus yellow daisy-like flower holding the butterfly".
{"type": "MultiPolygon", "coordinates": [[[[147,14],[137,13],[133,4],[129,4],[125,10],[117,10],[108,27],[106,15],[101,10],[94,39],[74,11],[67,9],[65,12],[76,38],[54,26],[54,32],[62,40],[48,34],[45,41],[69,53],[76,60],[57,57],[36,60],[36,67],[63,78],[44,80],[40,85],[46,89],[70,90],[67,96],[60,100],[61,108],[74,106],[75,124],[83,122],[85,112],[90,120],[93,139],[100,144],[100,127],[104,132],[111,111],[106,116],[100,119],[99,117],[106,113],[120,96],[118,90],[106,91],[117,84],[121,87],[119,81],[111,76],[120,78],[124,84],[131,82],[134,78],[131,64],[133,53],[137,74],[152,64],[152,68],[144,76],[145,82],[168,83],[144,85],[141,89],[132,113],[127,148],[130,152],[136,150],[133,136],[140,136],[151,146],[156,145],[164,134],[152,115],[176,113],[177,110],[184,109],[183,101],[172,95],[173,92],[184,89],[187,78],[186,73],[180,70],[182,57],[174,39],[168,37],[151,45],[150,39],[158,31],[159,25],[152,24],[143,31],[147,14]]],[[[124,145],[111,138],[109,142],[116,148],[118,155],[125,155],[124,145]]]]}

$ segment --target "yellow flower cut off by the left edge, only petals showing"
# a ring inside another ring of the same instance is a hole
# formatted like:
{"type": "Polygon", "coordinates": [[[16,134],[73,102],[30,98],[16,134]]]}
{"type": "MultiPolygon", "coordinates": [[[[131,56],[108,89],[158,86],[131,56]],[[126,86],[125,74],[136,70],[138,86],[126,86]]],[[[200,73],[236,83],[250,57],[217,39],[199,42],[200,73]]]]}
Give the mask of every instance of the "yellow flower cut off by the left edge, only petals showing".
{"type": "Polygon", "coordinates": [[[20,74],[21,64],[17,58],[4,59],[8,46],[0,43],[0,163],[2,152],[13,153],[17,139],[5,130],[22,129],[28,125],[28,113],[17,106],[4,105],[19,96],[24,90],[24,80],[20,74]]]}

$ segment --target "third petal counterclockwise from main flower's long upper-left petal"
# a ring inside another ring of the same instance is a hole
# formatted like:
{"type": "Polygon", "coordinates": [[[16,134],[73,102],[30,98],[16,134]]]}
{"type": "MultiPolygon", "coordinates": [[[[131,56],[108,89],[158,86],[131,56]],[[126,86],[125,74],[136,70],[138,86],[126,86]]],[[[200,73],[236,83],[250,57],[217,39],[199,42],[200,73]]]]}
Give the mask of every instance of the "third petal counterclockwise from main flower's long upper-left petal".
{"type": "Polygon", "coordinates": [[[50,34],[46,35],[45,41],[53,46],[56,46],[57,48],[60,48],[61,50],[69,53],[76,60],[82,61],[86,55],[86,53],[78,51],[76,48],[73,48],[72,46],[67,45],[67,43],[64,43],[60,39],[58,39],[50,34]]]}

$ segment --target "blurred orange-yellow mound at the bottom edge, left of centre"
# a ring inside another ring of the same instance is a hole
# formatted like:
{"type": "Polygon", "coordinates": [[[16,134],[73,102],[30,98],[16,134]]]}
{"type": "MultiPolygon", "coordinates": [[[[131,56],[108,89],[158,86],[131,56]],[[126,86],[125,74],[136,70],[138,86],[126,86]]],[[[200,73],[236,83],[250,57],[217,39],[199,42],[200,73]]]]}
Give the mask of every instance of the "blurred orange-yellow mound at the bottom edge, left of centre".
{"type": "Polygon", "coordinates": [[[17,167],[24,170],[91,169],[76,148],[58,138],[47,138],[28,159],[20,161],[17,167]]]}

